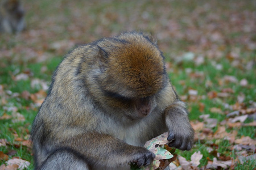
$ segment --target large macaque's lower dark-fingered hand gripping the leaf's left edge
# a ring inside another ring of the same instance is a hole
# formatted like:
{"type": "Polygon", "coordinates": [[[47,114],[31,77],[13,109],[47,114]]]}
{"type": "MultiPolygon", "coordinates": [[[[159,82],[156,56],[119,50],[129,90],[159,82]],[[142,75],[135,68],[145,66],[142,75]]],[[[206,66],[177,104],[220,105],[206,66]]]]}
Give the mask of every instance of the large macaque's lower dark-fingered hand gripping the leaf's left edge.
{"type": "Polygon", "coordinates": [[[155,154],[151,151],[148,151],[146,148],[138,147],[136,152],[134,153],[133,163],[136,163],[139,168],[142,166],[146,167],[151,164],[153,159],[155,158],[155,154]]]}

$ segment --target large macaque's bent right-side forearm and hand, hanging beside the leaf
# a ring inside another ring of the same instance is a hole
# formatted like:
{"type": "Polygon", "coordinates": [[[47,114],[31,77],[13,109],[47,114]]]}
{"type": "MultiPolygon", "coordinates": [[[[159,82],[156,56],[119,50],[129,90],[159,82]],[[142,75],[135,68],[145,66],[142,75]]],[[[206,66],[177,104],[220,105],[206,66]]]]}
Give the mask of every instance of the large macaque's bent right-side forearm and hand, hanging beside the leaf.
{"type": "Polygon", "coordinates": [[[193,146],[194,130],[188,120],[188,112],[184,103],[178,101],[164,111],[166,125],[169,129],[169,146],[180,150],[191,150],[193,146]]]}

